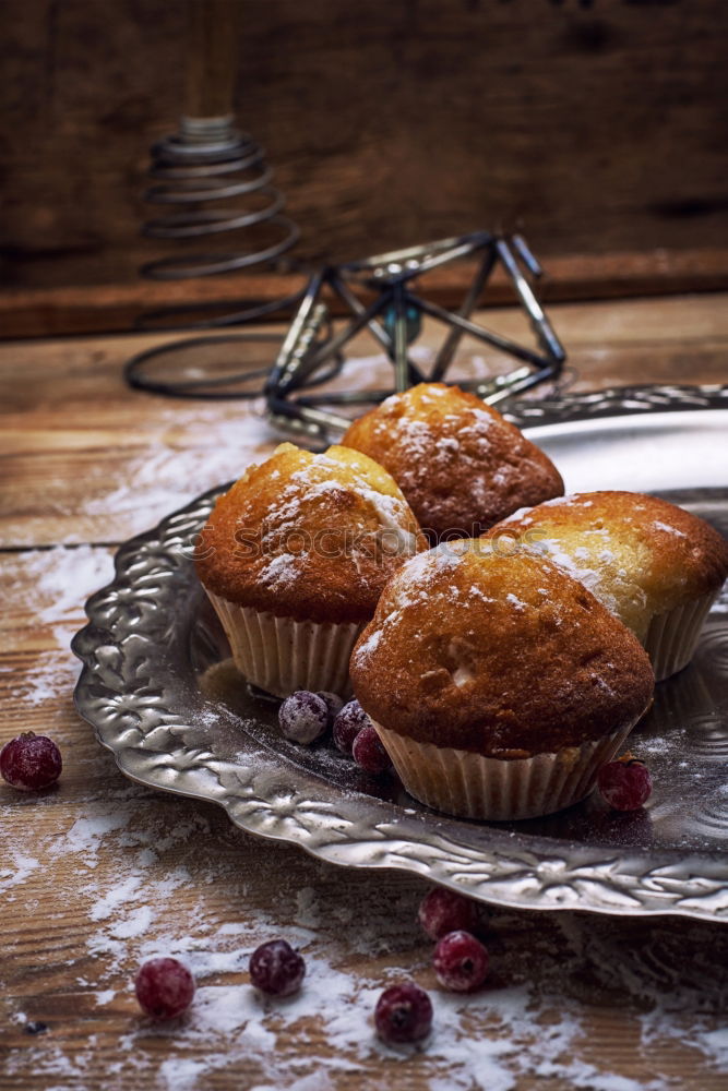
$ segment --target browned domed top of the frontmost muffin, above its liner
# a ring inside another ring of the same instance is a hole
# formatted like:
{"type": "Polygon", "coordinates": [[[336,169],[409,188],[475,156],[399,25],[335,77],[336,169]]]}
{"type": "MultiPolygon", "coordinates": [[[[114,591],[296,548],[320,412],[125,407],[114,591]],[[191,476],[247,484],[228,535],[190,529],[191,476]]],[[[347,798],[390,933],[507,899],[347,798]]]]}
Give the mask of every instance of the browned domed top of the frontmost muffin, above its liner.
{"type": "Polygon", "coordinates": [[[577,580],[479,539],[408,561],[351,655],[374,721],[489,757],[554,753],[634,722],[654,686],[632,633],[577,580]]]}

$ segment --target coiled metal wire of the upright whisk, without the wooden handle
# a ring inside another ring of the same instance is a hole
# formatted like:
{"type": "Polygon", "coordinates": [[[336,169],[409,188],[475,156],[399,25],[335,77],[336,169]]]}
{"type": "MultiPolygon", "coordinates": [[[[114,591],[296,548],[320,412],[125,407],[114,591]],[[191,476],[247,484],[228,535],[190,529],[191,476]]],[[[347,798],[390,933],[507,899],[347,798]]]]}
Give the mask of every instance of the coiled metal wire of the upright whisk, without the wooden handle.
{"type": "MultiPolygon", "coordinates": [[[[142,276],[187,280],[256,265],[270,266],[298,240],[297,225],[282,215],[285,199],[271,184],[273,171],[265,163],[265,151],[251,136],[235,129],[230,117],[182,118],[178,133],[152,147],[150,177],[153,184],[144,199],[164,213],[148,220],[142,233],[152,239],[174,240],[179,250],[143,265],[142,276]],[[242,243],[243,236],[244,249],[234,248],[232,242],[242,243]],[[212,244],[216,239],[220,242],[218,247],[212,244]]],[[[145,312],[136,325],[145,331],[236,326],[295,305],[303,290],[305,287],[284,298],[243,308],[226,307],[218,301],[168,305],[145,312]]],[[[262,392],[270,370],[274,356],[271,348],[266,345],[260,367],[248,367],[242,372],[235,365],[230,370],[227,363],[220,369],[219,361],[223,357],[235,359],[230,346],[236,340],[271,339],[279,340],[256,334],[177,340],[133,357],[124,375],[131,386],[150,393],[254,397],[262,392]],[[211,347],[212,355],[217,356],[212,367],[200,356],[200,350],[204,350],[204,359],[208,360],[211,347]],[[190,379],[187,369],[195,360],[195,353],[203,362],[202,369],[195,367],[195,372],[207,373],[190,379]],[[219,370],[224,372],[222,375],[219,370]]]]}

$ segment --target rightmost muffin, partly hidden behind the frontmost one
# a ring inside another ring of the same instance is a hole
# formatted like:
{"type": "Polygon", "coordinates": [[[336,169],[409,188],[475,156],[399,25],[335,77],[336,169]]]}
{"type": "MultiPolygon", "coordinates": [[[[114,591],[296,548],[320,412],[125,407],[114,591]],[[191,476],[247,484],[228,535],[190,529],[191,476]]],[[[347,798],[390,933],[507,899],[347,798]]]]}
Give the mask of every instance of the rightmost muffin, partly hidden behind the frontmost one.
{"type": "Polygon", "coordinates": [[[517,512],[515,536],[580,579],[642,642],[659,682],[685,667],[728,575],[728,542],[656,496],[583,492],[517,512]]]}

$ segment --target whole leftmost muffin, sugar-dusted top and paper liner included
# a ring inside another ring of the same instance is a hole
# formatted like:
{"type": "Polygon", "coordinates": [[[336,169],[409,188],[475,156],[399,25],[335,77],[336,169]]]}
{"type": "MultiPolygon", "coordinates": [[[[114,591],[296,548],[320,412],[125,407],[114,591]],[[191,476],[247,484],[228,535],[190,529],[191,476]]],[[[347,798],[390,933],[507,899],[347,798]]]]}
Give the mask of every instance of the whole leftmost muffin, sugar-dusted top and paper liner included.
{"type": "Polygon", "coordinates": [[[219,497],[195,565],[248,681],[279,697],[346,695],[351,648],[384,584],[426,548],[371,458],[284,443],[219,497]]]}

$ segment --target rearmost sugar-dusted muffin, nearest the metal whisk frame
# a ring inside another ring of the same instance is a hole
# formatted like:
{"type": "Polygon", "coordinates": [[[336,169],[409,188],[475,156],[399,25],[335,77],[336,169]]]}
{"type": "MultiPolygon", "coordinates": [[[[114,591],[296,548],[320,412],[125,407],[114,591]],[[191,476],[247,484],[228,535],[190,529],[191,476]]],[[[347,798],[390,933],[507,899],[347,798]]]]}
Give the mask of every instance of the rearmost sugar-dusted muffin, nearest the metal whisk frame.
{"type": "Polygon", "coordinates": [[[437,541],[477,538],[516,508],[563,493],[542,451],[480,398],[444,383],[386,398],[342,443],[390,471],[437,541]]]}

